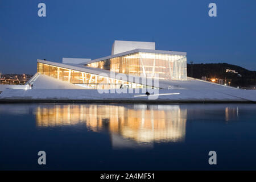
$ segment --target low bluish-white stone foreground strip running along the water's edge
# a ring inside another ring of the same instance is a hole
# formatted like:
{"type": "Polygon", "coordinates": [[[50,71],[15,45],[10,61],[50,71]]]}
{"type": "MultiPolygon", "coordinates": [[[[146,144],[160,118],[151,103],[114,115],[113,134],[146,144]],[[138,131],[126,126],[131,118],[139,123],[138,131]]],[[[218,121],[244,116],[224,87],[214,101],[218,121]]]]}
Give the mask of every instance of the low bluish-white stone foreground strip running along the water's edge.
{"type": "MultiPolygon", "coordinates": [[[[143,94],[117,93],[117,90],[105,90],[100,93],[93,89],[32,89],[32,90],[4,90],[0,94],[0,101],[4,100],[44,100],[44,101],[101,101],[101,102],[255,102],[256,90],[186,90],[186,89],[153,89],[149,97],[134,97],[143,94]],[[170,94],[179,93],[179,94],[170,94]],[[154,94],[159,94],[155,98],[154,94]]],[[[119,90],[121,91],[121,90],[119,90]]],[[[129,91],[129,90],[128,90],[129,91]]],[[[134,90],[131,90],[134,91],[134,90]]]]}

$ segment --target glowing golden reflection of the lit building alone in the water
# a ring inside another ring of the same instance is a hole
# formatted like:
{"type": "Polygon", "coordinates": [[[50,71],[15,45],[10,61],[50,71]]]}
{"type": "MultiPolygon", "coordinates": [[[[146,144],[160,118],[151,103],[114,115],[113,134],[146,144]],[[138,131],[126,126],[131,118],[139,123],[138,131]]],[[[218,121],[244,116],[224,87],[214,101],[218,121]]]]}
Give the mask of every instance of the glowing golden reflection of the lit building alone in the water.
{"type": "Polygon", "coordinates": [[[108,130],[113,146],[183,141],[187,121],[187,109],[179,105],[39,105],[35,115],[38,127],[83,123],[108,130]]]}

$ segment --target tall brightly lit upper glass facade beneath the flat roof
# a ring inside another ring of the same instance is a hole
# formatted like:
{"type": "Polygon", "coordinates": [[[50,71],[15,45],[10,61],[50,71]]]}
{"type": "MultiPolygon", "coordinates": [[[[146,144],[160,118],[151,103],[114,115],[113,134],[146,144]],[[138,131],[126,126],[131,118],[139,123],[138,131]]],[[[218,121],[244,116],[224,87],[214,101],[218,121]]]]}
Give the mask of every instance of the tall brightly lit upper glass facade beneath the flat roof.
{"type": "Polygon", "coordinates": [[[137,52],[90,63],[88,66],[160,80],[187,79],[187,56],[185,55],[137,52]]]}

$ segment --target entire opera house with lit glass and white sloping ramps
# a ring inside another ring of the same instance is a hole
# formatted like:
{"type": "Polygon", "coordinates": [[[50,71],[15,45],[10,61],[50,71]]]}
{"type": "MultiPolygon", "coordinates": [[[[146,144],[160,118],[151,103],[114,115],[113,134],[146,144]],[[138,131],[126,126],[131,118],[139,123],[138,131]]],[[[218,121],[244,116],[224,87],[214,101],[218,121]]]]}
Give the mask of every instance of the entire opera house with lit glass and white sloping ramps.
{"type": "Polygon", "coordinates": [[[111,55],[99,59],[37,60],[37,73],[24,86],[7,88],[0,87],[2,102],[256,102],[255,90],[188,77],[186,52],[157,50],[154,42],[121,40],[114,41],[111,55]]]}

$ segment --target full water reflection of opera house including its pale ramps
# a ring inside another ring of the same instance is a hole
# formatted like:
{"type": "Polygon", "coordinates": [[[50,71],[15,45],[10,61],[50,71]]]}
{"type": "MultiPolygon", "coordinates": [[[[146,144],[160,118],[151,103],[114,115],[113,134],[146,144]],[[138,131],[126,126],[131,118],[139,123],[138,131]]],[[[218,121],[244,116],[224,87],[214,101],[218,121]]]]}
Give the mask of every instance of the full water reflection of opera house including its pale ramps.
{"type": "Polygon", "coordinates": [[[100,104],[4,104],[3,114],[36,116],[36,126],[74,126],[91,131],[109,131],[113,147],[151,147],[153,142],[183,142],[186,123],[238,121],[240,113],[255,110],[252,105],[100,105],[100,104]]]}

